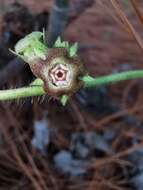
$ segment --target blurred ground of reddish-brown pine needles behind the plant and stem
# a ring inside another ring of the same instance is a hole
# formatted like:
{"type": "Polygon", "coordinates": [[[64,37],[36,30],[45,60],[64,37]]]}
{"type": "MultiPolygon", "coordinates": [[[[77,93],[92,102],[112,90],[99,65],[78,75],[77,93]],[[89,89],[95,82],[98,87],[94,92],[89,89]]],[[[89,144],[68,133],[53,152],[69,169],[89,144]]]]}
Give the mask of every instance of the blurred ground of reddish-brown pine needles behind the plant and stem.
{"type": "MultiPolygon", "coordinates": [[[[91,76],[143,69],[141,0],[0,0],[0,88],[28,85],[15,43],[79,43],[91,76]]],[[[143,190],[143,80],[0,102],[0,190],[143,190]]]]}

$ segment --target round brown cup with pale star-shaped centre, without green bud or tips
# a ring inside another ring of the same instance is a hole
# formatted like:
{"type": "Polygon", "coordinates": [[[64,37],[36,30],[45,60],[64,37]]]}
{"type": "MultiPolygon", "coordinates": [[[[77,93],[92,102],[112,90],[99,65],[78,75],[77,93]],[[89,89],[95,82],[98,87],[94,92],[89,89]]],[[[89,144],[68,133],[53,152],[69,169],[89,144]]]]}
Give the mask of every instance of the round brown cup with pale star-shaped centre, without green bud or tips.
{"type": "Polygon", "coordinates": [[[81,60],[78,56],[69,57],[65,48],[49,49],[46,60],[37,59],[30,67],[35,76],[44,81],[44,89],[52,97],[70,96],[82,85],[79,80],[83,74],[81,60]]]}

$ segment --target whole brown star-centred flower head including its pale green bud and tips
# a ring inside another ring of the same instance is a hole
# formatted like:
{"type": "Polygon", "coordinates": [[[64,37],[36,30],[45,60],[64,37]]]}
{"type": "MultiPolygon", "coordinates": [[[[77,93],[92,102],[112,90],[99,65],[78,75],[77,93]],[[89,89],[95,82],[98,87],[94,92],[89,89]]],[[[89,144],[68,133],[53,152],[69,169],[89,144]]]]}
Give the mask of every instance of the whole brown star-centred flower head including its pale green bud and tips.
{"type": "Polygon", "coordinates": [[[57,38],[52,48],[45,44],[45,33],[32,32],[19,40],[12,53],[29,64],[32,73],[41,79],[45,92],[59,98],[63,105],[82,87],[84,67],[77,55],[78,43],[57,38]]]}

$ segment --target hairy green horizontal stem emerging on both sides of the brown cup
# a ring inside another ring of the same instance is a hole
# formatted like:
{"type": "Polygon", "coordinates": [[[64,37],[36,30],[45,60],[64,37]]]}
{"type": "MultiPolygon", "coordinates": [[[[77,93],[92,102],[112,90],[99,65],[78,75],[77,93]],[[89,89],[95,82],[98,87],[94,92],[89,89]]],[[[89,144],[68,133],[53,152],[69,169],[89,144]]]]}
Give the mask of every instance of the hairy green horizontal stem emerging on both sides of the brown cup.
{"type": "MultiPolygon", "coordinates": [[[[84,82],[84,88],[92,88],[95,86],[107,85],[135,78],[143,78],[143,70],[127,71],[107,76],[101,76],[97,78],[85,76],[81,78],[81,80],[84,82]]],[[[10,89],[10,90],[0,90],[0,100],[13,100],[13,99],[19,99],[31,96],[42,96],[44,94],[45,92],[42,83],[38,79],[36,82],[32,83],[31,86],[29,87],[10,89]]]]}

